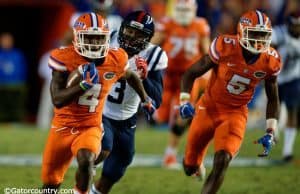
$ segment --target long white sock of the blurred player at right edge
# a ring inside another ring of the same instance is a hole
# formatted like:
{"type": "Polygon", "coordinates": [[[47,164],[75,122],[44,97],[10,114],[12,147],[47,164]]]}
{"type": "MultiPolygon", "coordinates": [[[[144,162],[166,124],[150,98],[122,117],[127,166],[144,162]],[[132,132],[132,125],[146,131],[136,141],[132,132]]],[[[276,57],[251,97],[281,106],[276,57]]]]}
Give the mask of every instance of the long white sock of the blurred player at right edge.
{"type": "Polygon", "coordinates": [[[296,135],[297,135],[296,128],[286,128],[284,130],[284,142],[283,142],[283,151],[282,151],[282,155],[284,157],[293,155],[293,146],[295,143],[296,135]]]}

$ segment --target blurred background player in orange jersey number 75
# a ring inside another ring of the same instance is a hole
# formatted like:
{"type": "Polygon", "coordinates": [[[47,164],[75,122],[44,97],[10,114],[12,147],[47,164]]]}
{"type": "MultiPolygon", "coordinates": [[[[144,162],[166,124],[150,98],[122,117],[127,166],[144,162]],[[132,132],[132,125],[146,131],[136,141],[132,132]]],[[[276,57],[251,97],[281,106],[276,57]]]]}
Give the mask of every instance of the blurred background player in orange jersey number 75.
{"type": "Polygon", "coordinates": [[[171,168],[178,164],[177,147],[186,126],[186,121],[182,121],[174,109],[174,105],[179,104],[180,79],[196,60],[208,52],[210,44],[210,27],[206,19],[196,17],[196,10],[195,0],[176,0],[173,17],[163,18],[157,23],[152,38],[152,42],[161,45],[168,55],[163,100],[154,120],[157,123],[169,122],[170,135],[163,165],[171,168]]]}

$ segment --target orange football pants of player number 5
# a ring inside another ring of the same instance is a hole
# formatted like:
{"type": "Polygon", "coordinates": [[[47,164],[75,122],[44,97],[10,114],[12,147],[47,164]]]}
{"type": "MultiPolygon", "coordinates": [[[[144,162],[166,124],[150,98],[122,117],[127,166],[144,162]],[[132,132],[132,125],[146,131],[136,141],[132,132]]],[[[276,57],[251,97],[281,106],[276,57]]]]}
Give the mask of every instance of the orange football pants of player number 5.
{"type": "Polygon", "coordinates": [[[205,157],[209,142],[214,139],[214,151],[225,150],[233,157],[239,150],[247,123],[247,107],[224,108],[213,102],[196,107],[187,135],[184,163],[200,165],[205,157]]]}

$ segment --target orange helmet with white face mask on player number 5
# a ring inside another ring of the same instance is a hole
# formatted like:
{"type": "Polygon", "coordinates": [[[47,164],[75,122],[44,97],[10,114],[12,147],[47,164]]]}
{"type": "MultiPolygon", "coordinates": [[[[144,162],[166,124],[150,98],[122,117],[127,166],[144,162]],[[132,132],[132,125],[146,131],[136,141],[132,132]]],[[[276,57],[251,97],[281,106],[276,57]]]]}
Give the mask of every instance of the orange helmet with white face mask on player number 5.
{"type": "Polygon", "coordinates": [[[258,54],[269,50],[271,44],[271,21],[264,13],[255,10],[242,15],[238,26],[238,39],[240,45],[258,54]]]}

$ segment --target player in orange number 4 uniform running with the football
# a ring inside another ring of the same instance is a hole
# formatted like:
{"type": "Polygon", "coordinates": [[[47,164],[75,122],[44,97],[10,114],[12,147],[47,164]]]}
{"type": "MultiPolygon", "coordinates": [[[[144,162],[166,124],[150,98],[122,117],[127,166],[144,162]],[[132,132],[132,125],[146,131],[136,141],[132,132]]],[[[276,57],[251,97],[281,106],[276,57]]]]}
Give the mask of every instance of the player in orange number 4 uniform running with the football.
{"type": "Polygon", "coordinates": [[[74,156],[78,163],[74,193],[88,192],[92,166],[101,147],[104,101],[118,79],[127,79],[144,102],[144,109],[152,111],[139,78],[127,69],[126,52],[109,49],[106,20],[86,13],[76,20],[73,30],[73,46],[53,50],[49,58],[55,110],[43,154],[42,181],[44,189],[53,189],[51,193],[57,192],[74,156]],[[75,75],[81,81],[68,85],[68,75],[73,71],[79,72],[75,75]]]}

